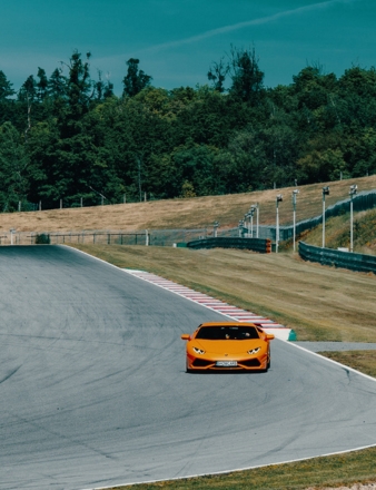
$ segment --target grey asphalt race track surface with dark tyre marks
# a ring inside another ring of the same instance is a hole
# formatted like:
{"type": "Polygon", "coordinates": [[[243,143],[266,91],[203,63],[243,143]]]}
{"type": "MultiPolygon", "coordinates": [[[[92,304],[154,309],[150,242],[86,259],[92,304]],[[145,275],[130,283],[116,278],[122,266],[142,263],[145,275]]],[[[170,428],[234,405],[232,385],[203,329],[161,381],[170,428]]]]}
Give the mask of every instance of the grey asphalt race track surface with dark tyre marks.
{"type": "Polygon", "coordinates": [[[63,246],[0,247],[0,488],[87,489],[376,444],[376,382],[273,341],[186,374],[219,314],[63,246]]]}

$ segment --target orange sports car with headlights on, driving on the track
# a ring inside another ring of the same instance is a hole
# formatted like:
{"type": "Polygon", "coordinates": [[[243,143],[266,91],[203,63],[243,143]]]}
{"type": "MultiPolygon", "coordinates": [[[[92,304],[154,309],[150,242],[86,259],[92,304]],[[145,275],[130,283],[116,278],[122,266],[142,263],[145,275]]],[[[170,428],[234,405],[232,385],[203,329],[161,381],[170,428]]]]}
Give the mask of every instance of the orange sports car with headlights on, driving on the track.
{"type": "Polygon", "coordinates": [[[191,335],[184,333],[187,342],[187,373],[192,371],[247,370],[267,371],[270,366],[269,341],[253,323],[201,323],[191,335]]]}

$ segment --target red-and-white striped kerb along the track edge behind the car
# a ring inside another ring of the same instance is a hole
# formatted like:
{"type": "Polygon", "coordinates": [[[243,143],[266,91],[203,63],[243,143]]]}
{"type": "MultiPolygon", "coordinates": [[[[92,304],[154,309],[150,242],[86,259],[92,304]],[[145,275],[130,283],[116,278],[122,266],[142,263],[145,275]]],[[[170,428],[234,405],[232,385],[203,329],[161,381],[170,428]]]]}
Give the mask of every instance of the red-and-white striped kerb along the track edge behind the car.
{"type": "Polygon", "coordinates": [[[257,315],[257,313],[248,312],[247,310],[241,310],[237,306],[224,303],[220,300],[216,300],[207,294],[199,293],[189,287],[181,286],[180,284],[174,283],[172,281],[165,280],[164,277],[157,276],[145,271],[135,271],[131,268],[123,268],[123,271],[132,276],[136,276],[142,281],[155,284],[156,286],[168,290],[171,293],[178,294],[186,300],[192,301],[200,304],[216,313],[227,316],[230,320],[237,322],[250,322],[255,325],[261,327],[267,333],[271,333],[276,339],[283,341],[296,341],[296,333],[294,330],[288,329],[280,323],[274,322],[273,320],[265,318],[264,316],[257,315]]]}

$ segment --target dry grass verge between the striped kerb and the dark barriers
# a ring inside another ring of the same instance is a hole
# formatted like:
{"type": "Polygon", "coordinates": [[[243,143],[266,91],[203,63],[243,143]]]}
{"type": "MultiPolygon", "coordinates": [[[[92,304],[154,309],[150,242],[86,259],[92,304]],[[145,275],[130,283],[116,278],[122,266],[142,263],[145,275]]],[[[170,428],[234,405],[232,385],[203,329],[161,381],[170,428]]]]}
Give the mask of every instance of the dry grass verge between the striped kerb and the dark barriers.
{"type": "Polygon", "coordinates": [[[159,274],[294,329],[298,340],[376,342],[376,276],[297,254],[77,245],[119,267],[159,274]]]}

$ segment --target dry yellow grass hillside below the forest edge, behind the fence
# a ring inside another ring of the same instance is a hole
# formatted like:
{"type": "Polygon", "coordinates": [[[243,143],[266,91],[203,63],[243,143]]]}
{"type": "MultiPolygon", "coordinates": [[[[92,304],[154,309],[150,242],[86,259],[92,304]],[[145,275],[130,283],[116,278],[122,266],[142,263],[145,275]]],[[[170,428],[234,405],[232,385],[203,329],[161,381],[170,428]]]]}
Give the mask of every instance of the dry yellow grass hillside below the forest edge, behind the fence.
{"type": "MultiPolygon", "coordinates": [[[[376,176],[328,183],[330,195],[327,206],[348,197],[349,185],[358,189],[376,188],[376,176]]],[[[321,213],[321,187],[326,184],[300,186],[297,199],[297,220],[317,216],[321,213]]],[[[212,226],[235,227],[251,204],[259,203],[260,224],[274,224],[276,218],[276,195],[283,194],[279,205],[280,224],[293,220],[291,192],[294,187],[268,189],[247,194],[207,196],[191,199],[155,200],[109,206],[52,209],[32,213],[2,214],[0,233],[16,228],[18,232],[62,232],[93,229],[162,229],[200,228],[212,226]]]]}

